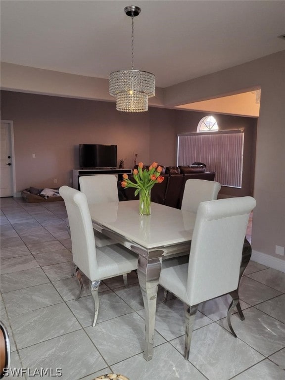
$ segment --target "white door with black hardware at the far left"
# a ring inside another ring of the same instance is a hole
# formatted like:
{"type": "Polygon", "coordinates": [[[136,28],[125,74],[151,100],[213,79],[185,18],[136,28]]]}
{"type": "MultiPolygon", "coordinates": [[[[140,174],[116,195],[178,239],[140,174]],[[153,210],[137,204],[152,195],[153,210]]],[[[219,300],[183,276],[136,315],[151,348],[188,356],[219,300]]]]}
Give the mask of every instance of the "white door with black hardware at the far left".
{"type": "Polygon", "coordinates": [[[13,196],[13,126],[1,121],[0,197],[13,196]]]}

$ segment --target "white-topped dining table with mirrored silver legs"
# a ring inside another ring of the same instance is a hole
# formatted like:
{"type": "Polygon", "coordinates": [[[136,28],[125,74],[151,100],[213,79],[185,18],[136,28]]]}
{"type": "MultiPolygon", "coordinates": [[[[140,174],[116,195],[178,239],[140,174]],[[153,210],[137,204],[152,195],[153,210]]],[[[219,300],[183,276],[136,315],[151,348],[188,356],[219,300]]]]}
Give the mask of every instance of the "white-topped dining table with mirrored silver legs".
{"type": "Polygon", "coordinates": [[[151,202],[151,215],[139,214],[139,201],[89,205],[93,227],[139,255],[138,278],[145,311],[145,360],[153,354],[155,310],[162,258],[190,252],[196,214],[151,202]]]}

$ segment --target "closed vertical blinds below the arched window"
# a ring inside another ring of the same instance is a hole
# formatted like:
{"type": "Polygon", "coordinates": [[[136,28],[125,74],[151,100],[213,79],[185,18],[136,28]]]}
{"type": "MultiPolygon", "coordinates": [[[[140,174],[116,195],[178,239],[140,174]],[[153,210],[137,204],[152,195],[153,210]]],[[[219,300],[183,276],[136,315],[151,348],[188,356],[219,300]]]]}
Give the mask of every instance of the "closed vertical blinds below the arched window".
{"type": "Polygon", "coordinates": [[[204,162],[224,186],[241,188],[242,156],[243,131],[178,135],[178,165],[204,162]]]}

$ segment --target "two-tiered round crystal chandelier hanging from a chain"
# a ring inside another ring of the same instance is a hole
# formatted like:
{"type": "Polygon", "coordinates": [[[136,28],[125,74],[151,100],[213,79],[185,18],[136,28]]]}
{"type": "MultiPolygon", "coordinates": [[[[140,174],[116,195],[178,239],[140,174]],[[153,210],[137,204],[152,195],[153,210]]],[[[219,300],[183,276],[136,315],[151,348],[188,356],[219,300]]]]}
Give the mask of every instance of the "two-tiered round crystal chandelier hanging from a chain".
{"type": "Polygon", "coordinates": [[[109,93],[117,98],[117,111],[144,112],[148,110],[148,98],[155,95],[155,77],[147,71],[134,70],[134,17],[141,8],[129,5],[124,12],[132,17],[132,69],[110,74],[109,93]]]}

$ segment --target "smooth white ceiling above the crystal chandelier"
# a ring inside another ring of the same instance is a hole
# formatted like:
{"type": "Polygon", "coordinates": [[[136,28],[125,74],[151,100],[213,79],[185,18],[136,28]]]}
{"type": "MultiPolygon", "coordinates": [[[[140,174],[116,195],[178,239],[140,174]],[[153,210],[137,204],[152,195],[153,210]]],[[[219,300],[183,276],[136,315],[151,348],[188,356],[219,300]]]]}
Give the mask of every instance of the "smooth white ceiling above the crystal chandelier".
{"type": "Polygon", "coordinates": [[[131,68],[168,87],[285,49],[285,1],[2,0],[1,61],[98,78],[131,68]]]}

